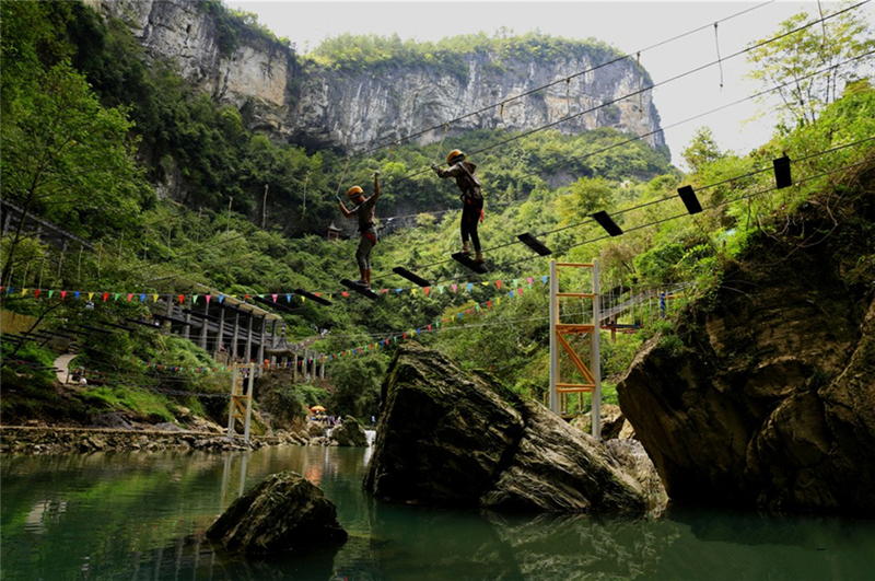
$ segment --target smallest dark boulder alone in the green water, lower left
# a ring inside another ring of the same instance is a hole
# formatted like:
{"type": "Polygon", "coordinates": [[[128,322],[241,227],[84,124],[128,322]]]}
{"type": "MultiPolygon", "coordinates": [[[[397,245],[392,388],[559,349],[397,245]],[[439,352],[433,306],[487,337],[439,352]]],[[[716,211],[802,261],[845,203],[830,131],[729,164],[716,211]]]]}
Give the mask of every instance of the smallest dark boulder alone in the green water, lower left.
{"type": "Polygon", "coordinates": [[[268,554],[341,545],[337,509],[300,474],[272,474],[234,501],[207,530],[232,553],[268,554]]]}

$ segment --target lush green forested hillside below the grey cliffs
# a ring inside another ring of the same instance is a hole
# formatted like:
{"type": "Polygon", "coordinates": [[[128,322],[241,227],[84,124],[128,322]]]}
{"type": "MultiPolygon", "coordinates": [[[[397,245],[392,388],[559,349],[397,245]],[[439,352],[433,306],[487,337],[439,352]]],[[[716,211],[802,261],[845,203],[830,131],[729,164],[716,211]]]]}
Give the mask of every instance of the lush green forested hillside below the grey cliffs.
{"type": "MultiPolygon", "coordinates": [[[[147,59],[126,27],[81,3],[2,2],[0,10],[2,198],[89,243],[73,253],[24,229],[4,232],[3,310],[69,329],[147,316],[154,301],[130,297],[191,300],[203,293],[196,283],[240,298],[285,298],[295,289],[330,294],[332,306],[295,300],[291,312],[279,314],[290,338],[328,330],[314,348],[343,353],[329,364],[331,393],[307,386],[282,394],[360,417],[376,410],[392,346],[411,335],[471,367],[492,369],[525,395],[544,394],[547,262],[517,234],[536,234],[555,257],[598,258],[605,292],[685,284],[688,298],[708,297],[750,240],[779,232],[775,214],[792,220],[810,193],[845,187],[841,170],[873,151],[875,91],[866,79],[849,77],[854,82],[821,103],[813,119],[791,119],[749,154],[721,151],[703,128],[681,152],[690,175],[672,167],[664,149],[610,128],[523,138],[485,129],[346,159],[246,129],[245,109],[197,94],[172,63],[147,59]],[[459,247],[458,196],[429,165],[443,163],[451,149],[468,153],[485,186],[487,275],[450,259],[459,247]],[[772,160],[784,154],[798,183],[775,190],[772,160]],[[325,233],[332,221],[351,232],[335,195],[354,184],[370,195],[375,171],[384,186],[377,206],[383,235],[374,249],[381,298],[371,302],[345,297],[338,283],[358,278],[358,240],[329,242],[325,233]],[[179,201],[156,187],[168,182],[185,190],[179,201]],[[696,188],[705,211],[687,216],[677,199],[682,185],[696,188]],[[621,237],[605,235],[592,220],[603,210],[623,229],[621,237]],[[392,274],[396,266],[432,286],[412,287],[392,274]],[[85,294],[73,300],[75,291],[85,294]],[[95,293],[93,309],[86,309],[88,293],[95,293]],[[359,348],[362,355],[353,357],[359,348]]],[[[326,44],[317,57],[352,59],[348,40],[326,44]]],[[[363,50],[355,66],[378,66],[375,54],[363,50]]],[[[861,257],[864,265],[871,259],[861,257]]],[[[666,328],[656,315],[639,312],[654,324],[605,347],[606,376],[625,369],[643,337],[666,328]]],[[[48,349],[8,341],[2,349],[3,412],[19,419],[74,420],[90,406],[110,406],[172,420],[178,405],[215,412],[180,394],[226,391],[221,369],[201,371],[214,367],[209,353],[150,329],[83,345],[78,364],[112,373],[114,381],[74,405],[48,390],[50,372],[22,363],[49,364],[48,349]],[[8,386],[18,397],[5,397],[8,386]],[[175,395],[167,397],[167,390],[175,395]]]]}

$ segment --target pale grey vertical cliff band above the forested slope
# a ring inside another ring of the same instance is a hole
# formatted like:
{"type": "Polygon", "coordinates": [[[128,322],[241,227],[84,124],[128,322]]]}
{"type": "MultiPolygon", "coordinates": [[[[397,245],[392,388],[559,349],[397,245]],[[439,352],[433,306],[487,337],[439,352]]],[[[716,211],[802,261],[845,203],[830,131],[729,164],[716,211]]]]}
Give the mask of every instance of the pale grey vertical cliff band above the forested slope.
{"type": "MultiPolygon", "coordinates": [[[[152,56],[175,60],[184,78],[218,102],[245,108],[253,128],[312,148],[357,151],[388,144],[615,58],[594,49],[550,62],[498,63],[494,56],[472,54],[465,59],[464,75],[428,66],[351,73],[302,66],[291,48],[258,34],[238,32],[230,43],[214,11],[194,0],[85,2],[121,19],[152,56]]],[[[450,135],[479,128],[532,129],[648,84],[646,71],[623,60],[504,107],[470,115],[453,124],[450,135]]],[[[651,93],[585,113],[556,129],[576,133],[605,126],[639,135],[657,130],[660,118],[651,93]]],[[[443,129],[438,129],[417,140],[428,143],[442,137],[443,129]]],[[[665,143],[662,133],[648,141],[654,147],[665,143]]]]}

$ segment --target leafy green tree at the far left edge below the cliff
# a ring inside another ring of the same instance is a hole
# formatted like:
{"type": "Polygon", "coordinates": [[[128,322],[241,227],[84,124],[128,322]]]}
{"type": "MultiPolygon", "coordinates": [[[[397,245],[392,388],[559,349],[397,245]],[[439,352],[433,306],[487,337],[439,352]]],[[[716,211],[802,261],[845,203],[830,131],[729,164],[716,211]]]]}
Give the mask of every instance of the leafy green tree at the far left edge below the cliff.
{"type": "MultiPolygon", "coordinates": [[[[101,106],[68,62],[34,71],[0,121],[3,197],[84,235],[132,223],[150,189],[133,159],[131,123],[101,106]]],[[[5,107],[4,107],[5,108],[5,107]]],[[[4,246],[2,284],[23,221],[4,246]]]]}

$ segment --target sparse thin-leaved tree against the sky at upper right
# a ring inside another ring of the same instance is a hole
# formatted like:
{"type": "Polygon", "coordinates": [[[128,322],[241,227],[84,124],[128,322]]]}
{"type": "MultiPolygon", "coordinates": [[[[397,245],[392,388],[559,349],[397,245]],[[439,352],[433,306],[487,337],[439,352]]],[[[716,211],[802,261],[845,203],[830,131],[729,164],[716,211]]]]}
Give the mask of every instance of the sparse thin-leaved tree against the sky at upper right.
{"type": "MultiPolygon", "coordinates": [[[[842,5],[847,7],[848,3],[842,5]]],[[[747,56],[752,65],[748,78],[763,89],[785,84],[775,92],[780,103],[771,108],[789,127],[814,123],[824,107],[841,95],[848,81],[864,75],[866,67],[872,68],[871,58],[841,65],[875,47],[865,12],[848,10],[825,21],[822,26],[791,33],[809,21],[806,11],[791,16],[773,35],[785,36],[750,50],[747,56]],[[825,72],[812,75],[819,70],[825,72]]],[[[751,46],[763,40],[756,40],[751,46]]]]}

